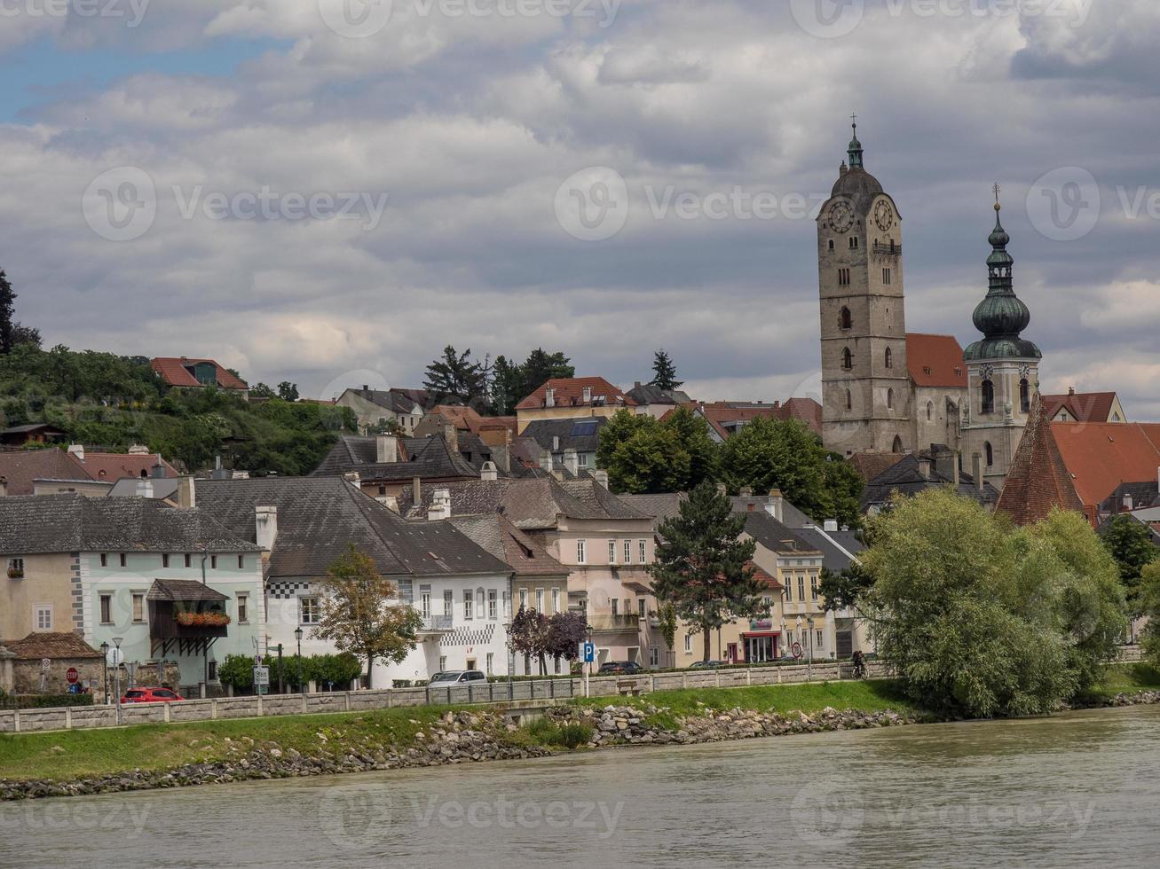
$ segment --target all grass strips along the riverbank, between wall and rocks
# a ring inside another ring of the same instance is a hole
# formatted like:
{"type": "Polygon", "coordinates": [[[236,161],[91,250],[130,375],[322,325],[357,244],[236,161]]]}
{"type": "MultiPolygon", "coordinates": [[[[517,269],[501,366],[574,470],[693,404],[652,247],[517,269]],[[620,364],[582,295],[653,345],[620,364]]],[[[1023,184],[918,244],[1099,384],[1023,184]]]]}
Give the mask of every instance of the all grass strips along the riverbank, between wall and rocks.
{"type": "MultiPolygon", "coordinates": [[[[1141,664],[1116,666],[1093,700],[1150,688],[1160,688],[1160,671],[1141,664]]],[[[706,709],[740,708],[782,715],[796,710],[812,715],[826,707],[864,713],[922,711],[889,680],[696,688],[573,702],[592,707],[616,703],[661,708],[646,716],[648,724],[669,731],[680,729],[681,718],[697,717],[706,709]]],[[[488,717],[484,707],[409,707],[372,713],[3,735],[0,736],[0,780],[59,782],[135,769],[169,771],[191,764],[237,761],[255,748],[276,748],[326,760],[339,760],[350,753],[406,753],[426,746],[430,732],[442,726],[441,720],[448,711],[488,717]]],[[[488,726],[492,729],[488,738],[500,746],[531,748],[552,742],[550,729],[532,726],[508,731],[495,722],[488,726]]]]}

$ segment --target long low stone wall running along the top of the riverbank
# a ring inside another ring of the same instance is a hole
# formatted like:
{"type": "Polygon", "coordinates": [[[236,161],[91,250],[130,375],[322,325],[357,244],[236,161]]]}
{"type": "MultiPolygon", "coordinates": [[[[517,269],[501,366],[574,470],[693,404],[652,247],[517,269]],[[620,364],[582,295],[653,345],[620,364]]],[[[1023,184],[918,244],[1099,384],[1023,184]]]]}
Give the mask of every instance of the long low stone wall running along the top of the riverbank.
{"type": "MultiPolygon", "coordinates": [[[[880,663],[869,665],[870,676],[886,676],[880,663]]],[[[589,692],[595,698],[625,694],[651,694],[682,688],[735,688],[749,685],[800,684],[849,679],[849,664],[834,662],[792,666],[768,666],[726,670],[686,670],[672,673],[592,677],[589,692]]],[[[162,724],[217,718],[259,718],[267,715],[317,715],[357,713],[393,707],[428,704],[486,704],[510,701],[565,700],[583,696],[582,677],[495,681],[451,688],[384,688],[378,691],[336,691],[320,694],[267,694],[264,696],[215,698],[184,700],[177,703],[125,703],[121,707],[121,724],[162,724]]],[[[0,711],[0,733],[31,733],[46,730],[77,730],[117,726],[115,706],[84,706],[53,709],[19,709],[0,711]]]]}

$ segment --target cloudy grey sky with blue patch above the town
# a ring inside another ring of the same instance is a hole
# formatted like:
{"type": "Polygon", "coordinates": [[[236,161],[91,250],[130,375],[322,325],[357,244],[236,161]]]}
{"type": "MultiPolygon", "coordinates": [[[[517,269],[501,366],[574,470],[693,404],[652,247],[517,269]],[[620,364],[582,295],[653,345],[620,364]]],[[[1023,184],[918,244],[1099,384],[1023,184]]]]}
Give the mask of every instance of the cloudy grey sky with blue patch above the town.
{"type": "Polygon", "coordinates": [[[857,111],[908,329],[974,339],[999,181],[1044,388],[1160,419],[1155,0],[0,0],[0,74],[48,344],[324,397],[448,343],[815,392],[857,111]]]}

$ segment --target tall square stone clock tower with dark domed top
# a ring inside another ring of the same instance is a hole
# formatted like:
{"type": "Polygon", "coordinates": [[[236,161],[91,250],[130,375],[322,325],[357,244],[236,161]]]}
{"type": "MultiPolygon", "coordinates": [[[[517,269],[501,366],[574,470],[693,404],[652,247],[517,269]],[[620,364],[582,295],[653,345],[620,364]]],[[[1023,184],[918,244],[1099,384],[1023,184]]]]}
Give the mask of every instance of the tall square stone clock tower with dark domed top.
{"type": "Polygon", "coordinates": [[[849,165],[818,214],[822,440],[842,455],[909,452],[901,217],[857,132],[855,117],[849,165]]]}

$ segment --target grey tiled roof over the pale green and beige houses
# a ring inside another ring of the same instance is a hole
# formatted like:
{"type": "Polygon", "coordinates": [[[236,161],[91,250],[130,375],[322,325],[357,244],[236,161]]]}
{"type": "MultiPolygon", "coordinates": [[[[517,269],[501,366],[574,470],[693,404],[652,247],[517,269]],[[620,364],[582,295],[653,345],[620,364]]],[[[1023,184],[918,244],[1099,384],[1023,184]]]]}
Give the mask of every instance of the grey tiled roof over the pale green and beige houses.
{"type": "MultiPolygon", "coordinates": [[[[198,482],[201,487],[201,482],[198,482]]],[[[246,538],[197,507],[148,498],[24,495],[0,498],[0,553],[259,552],[246,538]]]]}

